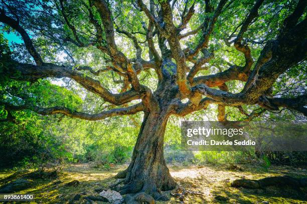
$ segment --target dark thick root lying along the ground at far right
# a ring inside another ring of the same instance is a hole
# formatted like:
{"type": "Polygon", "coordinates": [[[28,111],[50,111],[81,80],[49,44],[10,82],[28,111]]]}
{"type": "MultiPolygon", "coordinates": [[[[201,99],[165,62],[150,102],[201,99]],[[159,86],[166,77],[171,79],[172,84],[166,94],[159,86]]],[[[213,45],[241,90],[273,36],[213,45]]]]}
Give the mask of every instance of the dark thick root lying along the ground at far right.
{"type": "Polygon", "coordinates": [[[253,179],[236,179],[231,183],[233,187],[245,187],[245,188],[262,188],[270,185],[284,186],[289,185],[294,188],[306,187],[307,178],[294,178],[290,176],[271,176],[261,178],[258,180],[253,179]]]}

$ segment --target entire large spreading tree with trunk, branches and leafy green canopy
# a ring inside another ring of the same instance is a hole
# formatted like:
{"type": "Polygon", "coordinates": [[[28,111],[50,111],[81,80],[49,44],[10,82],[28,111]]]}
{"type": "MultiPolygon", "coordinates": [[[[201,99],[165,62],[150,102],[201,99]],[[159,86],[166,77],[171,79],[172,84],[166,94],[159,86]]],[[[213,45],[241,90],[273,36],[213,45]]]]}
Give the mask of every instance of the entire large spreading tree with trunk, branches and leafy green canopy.
{"type": "Polygon", "coordinates": [[[306,4],[304,0],[2,1],[3,30],[14,30],[25,45],[12,44],[11,51],[2,41],[4,120],[14,121],[14,112],[24,109],[87,120],[143,111],[131,163],[117,175],[124,178],[119,190],[166,199],[159,190],[176,184],[163,153],[170,115],[184,116],[210,104],[218,105],[220,121],[227,120],[226,107],[239,110],[245,120],[265,110],[283,110],[280,107],[307,115],[306,4]],[[57,93],[63,89],[49,94],[40,94],[46,85],[31,89],[32,83],[42,84],[41,78],[50,77],[73,79],[82,87],[80,98],[61,102],[57,93]],[[288,78],[294,81],[282,91],[288,78]],[[16,85],[19,81],[30,83],[21,87],[16,85]],[[107,110],[82,111],[85,91],[98,96],[91,99],[102,100],[107,110]]]}

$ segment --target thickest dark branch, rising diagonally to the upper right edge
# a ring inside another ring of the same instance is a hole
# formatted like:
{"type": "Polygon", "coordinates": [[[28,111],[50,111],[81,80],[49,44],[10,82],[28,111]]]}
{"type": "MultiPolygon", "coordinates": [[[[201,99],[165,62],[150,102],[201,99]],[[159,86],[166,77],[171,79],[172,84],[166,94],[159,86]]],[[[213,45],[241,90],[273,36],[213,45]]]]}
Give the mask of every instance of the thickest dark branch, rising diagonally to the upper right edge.
{"type": "Polygon", "coordinates": [[[288,33],[278,37],[271,45],[271,58],[250,77],[242,92],[248,100],[257,100],[275,82],[276,78],[289,67],[306,59],[307,18],[302,20],[288,33]]]}

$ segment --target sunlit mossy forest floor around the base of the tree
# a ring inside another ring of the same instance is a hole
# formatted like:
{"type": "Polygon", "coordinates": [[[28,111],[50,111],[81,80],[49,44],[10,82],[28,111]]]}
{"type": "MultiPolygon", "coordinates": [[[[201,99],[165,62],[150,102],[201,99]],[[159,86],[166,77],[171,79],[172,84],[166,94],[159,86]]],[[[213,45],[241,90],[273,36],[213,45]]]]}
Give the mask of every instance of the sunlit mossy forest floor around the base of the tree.
{"type": "MultiPolygon", "coordinates": [[[[114,165],[108,169],[97,169],[87,163],[62,166],[57,175],[37,175],[29,171],[0,171],[0,186],[16,179],[27,178],[32,185],[16,193],[34,194],[32,203],[87,203],[84,196],[99,195],[95,189],[107,188],[115,182],[113,176],[127,167],[114,165]],[[30,172],[31,173],[31,172],[30,172]],[[79,182],[70,181],[77,180],[79,182]],[[73,199],[78,199],[73,201],[73,199]]],[[[266,176],[289,175],[306,177],[306,167],[270,166],[264,168],[251,164],[188,165],[170,164],[170,172],[177,183],[190,191],[202,192],[203,195],[188,194],[184,202],[164,192],[170,201],[158,203],[307,203],[306,189],[270,186],[265,189],[246,189],[231,187],[231,182],[238,178],[259,179],[266,176]]],[[[49,169],[51,170],[51,169],[49,169]]],[[[93,203],[105,203],[94,201],[93,203]]]]}

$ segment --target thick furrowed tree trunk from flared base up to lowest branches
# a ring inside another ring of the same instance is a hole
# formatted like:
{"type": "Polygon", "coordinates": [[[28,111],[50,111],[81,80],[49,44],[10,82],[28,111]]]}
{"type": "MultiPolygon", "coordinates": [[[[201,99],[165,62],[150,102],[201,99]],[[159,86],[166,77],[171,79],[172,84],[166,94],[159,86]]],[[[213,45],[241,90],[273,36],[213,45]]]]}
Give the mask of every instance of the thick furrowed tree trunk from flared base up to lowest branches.
{"type": "Polygon", "coordinates": [[[169,115],[150,112],[144,119],[134,146],[129,167],[116,175],[125,178],[121,194],[145,192],[155,199],[166,199],[160,190],[174,189],[176,182],[164,159],[164,133],[169,115]]]}

